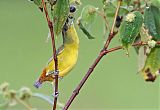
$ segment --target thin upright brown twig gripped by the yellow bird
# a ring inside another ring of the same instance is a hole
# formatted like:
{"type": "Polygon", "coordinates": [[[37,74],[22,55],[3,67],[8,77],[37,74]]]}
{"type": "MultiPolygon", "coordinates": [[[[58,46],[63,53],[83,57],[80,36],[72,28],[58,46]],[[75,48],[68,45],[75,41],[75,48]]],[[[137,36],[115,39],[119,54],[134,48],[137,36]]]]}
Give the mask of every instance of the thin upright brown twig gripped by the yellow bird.
{"type": "Polygon", "coordinates": [[[58,98],[58,59],[57,59],[57,54],[56,54],[56,46],[55,46],[55,39],[54,39],[54,31],[53,31],[53,23],[51,22],[49,15],[48,15],[48,11],[47,11],[47,7],[46,7],[46,3],[44,0],[42,0],[42,5],[44,8],[44,12],[46,15],[46,19],[48,22],[48,27],[50,29],[50,33],[51,33],[51,39],[52,39],[52,49],[53,49],[53,59],[55,62],[55,68],[54,68],[54,77],[55,77],[55,90],[54,90],[54,104],[53,104],[53,110],[56,110],[56,105],[57,105],[57,98],[58,98]]]}

